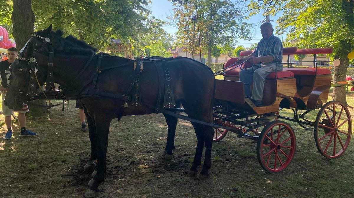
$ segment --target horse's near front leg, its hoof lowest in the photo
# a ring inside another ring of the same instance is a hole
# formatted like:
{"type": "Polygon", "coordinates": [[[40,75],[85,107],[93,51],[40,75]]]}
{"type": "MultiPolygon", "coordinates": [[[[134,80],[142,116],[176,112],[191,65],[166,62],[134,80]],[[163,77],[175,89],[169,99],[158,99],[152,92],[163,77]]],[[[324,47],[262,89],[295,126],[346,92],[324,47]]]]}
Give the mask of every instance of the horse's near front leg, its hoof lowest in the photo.
{"type": "Polygon", "coordinates": [[[98,186],[104,182],[104,175],[106,173],[106,154],[108,146],[108,132],[109,125],[111,122],[110,118],[107,116],[97,116],[95,121],[95,131],[96,131],[96,156],[97,156],[97,174],[89,182],[91,185],[90,190],[85,193],[85,197],[91,198],[98,195],[98,186]]]}

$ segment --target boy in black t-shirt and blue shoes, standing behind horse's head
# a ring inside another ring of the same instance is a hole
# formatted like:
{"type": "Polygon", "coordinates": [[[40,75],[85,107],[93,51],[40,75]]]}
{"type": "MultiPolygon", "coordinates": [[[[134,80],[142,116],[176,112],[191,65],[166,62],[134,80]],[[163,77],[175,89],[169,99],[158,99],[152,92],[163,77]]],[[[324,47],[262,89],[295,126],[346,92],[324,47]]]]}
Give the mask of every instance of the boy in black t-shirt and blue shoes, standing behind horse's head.
{"type": "MultiPolygon", "coordinates": [[[[1,86],[0,91],[2,92],[2,113],[4,114],[5,124],[7,127],[7,132],[4,139],[11,139],[12,130],[11,130],[11,115],[12,109],[9,109],[4,105],[5,94],[8,85],[8,77],[10,77],[9,67],[15,61],[18,51],[16,48],[12,47],[7,50],[8,60],[0,62],[0,75],[1,75],[1,86]]],[[[37,133],[34,133],[30,130],[26,130],[26,112],[28,112],[27,104],[23,104],[23,108],[18,110],[18,122],[21,127],[20,136],[35,136],[37,133]]]]}

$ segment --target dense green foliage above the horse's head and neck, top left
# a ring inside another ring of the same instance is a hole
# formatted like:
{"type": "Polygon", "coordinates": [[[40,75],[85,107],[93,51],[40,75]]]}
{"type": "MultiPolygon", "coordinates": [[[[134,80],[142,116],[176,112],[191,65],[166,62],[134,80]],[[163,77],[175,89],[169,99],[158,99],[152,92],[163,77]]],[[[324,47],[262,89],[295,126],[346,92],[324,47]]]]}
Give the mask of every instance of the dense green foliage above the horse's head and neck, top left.
{"type": "MultiPolygon", "coordinates": [[[[134,42],[135,49],[147,45],[141,35],[161,30],[161,21],[151,17],[150,0],[33,0],[35,31],[53,24],[66,35],[74,35],[104,50],[110,38],[134,42]]],[[[1,25],[11,24],[11,0],[0,0],[1,25]]],[[[12,29],[12,28],[10,28],[12,29]]],[[[9,30],[8,30],[9,31],[9,30]]],[[[9,31],[11,34],[11,32],[9,31]]]]}

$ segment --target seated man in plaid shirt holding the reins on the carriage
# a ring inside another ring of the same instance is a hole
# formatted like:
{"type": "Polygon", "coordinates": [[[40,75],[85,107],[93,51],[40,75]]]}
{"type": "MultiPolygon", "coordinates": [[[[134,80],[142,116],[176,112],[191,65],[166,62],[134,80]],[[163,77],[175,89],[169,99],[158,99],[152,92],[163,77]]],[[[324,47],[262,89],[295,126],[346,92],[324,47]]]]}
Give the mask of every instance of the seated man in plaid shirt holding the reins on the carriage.
{"type": "MultiPolygon", "coordinates": [[[[241,70],[240,81],[251,85],[253,82],[253,90],[251,100],[256,106],[262,106],[263,86],[265,78],[269,73],[283,70],[282,51],[283,45],[280,38],[273,35],[273,27],[271,23],[265,22],[261,25],[262,39],[259,41],[255,51],[245,58],[238,59],[243,62],[248,59],[253,63],[253,67],[241,70]],[[262,65],[258,63],[261,62],[262,65]]],[[[249,86],[245,86],[245,92],[250,92],[249,86]]]]}

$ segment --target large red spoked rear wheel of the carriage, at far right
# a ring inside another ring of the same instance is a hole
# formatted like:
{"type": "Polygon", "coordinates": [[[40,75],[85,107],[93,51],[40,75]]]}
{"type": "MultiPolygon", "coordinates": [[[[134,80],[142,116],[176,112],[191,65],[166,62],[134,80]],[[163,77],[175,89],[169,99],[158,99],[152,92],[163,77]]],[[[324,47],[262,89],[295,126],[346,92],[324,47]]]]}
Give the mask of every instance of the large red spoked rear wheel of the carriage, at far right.
{"type": "Polygon", "coordinates": [[[339,101],[329,101],[318,112],[314,128],[318,151],[326,158],[341,156],[352,136],[352,120],[348,108],[339,101]]]}

